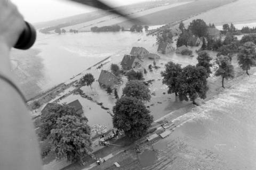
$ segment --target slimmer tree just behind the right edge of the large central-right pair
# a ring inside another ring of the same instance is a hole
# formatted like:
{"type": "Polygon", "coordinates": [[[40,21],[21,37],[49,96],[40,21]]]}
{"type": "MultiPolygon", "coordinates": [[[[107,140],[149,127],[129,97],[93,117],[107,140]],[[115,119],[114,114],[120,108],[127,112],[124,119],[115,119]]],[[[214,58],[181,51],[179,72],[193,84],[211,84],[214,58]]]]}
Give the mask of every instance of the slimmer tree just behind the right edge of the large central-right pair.
{"type": "Polygon", "coordinates": [[[210,55],[207,52],[200,51],[198,53],[198,56],[197,56],[198,63],[196,64],[196,66],[204,67],[207,72],[207,77],[209,77],[210,73],[212,73],[211,72],[211,66],[212,66],[211,60],[212,60],[212,58],[210,57],[210,55]]]}

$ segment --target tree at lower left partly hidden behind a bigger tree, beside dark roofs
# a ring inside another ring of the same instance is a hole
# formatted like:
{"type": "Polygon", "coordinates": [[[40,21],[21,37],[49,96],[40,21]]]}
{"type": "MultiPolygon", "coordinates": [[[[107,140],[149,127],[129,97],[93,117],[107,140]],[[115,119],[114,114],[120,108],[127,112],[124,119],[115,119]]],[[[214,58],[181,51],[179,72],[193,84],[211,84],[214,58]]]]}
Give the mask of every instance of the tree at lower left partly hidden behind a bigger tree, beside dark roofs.
{"type": "Polygon", "coordinates": [[[41,115],[41,124],[39,125],[40,127],[39,136],[43,140],[46,139],[48,135],[51,133],[51,130],[56,127],[57,119],[66,115],[74,115],[74,116],[81,117],[80,114],[76,113],[76,110],[74,107],[53,103],[51,107],[47,109],[47,112],[41,115]]]}

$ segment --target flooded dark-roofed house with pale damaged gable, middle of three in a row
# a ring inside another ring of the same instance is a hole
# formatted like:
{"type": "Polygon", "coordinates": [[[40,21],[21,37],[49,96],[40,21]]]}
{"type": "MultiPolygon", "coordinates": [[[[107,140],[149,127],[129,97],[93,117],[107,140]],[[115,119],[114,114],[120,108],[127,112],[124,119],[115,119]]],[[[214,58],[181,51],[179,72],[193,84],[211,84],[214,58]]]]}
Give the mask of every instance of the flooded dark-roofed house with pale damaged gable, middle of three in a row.
{"type": "Polygon", "coordinates": [[[136,69],[141,66],[142,61],[133,55],[124,55],[123,60],[121,62],[123,70],[131,70],[136,69]]]}

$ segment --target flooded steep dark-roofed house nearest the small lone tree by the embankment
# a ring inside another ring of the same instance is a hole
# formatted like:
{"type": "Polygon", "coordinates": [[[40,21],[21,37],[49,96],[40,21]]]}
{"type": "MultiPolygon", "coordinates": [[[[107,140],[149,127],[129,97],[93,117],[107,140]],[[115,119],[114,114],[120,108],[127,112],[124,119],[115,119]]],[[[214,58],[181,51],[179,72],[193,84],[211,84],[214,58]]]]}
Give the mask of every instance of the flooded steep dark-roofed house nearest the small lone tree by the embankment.
{"type": "Polygon", "coordinates": [[[116,84],[121,83],[121,79],[107,70],[101,70],[98,82],[101,87],[113,88],[116,84]]]}

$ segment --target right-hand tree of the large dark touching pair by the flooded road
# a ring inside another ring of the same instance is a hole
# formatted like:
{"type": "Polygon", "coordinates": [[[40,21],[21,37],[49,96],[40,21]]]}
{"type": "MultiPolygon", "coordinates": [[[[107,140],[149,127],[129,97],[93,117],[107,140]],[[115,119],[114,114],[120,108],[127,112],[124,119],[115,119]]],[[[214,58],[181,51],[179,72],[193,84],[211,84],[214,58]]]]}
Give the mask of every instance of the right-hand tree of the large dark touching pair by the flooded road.
{"type": "Polygon", "coordinates": [[[196,98],[206,98],[207,87],[207,72],[202,66],[188,65],[183,68],[182,81],[179,86],[179,99],[193,101],[196,105],[196,98]]]}

